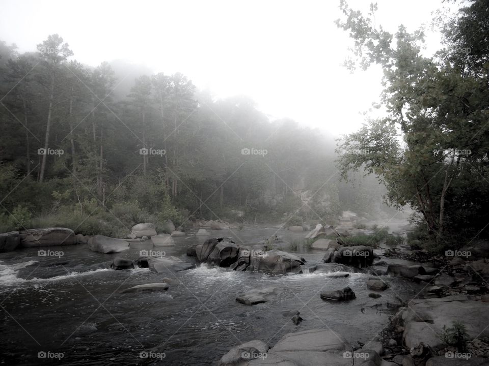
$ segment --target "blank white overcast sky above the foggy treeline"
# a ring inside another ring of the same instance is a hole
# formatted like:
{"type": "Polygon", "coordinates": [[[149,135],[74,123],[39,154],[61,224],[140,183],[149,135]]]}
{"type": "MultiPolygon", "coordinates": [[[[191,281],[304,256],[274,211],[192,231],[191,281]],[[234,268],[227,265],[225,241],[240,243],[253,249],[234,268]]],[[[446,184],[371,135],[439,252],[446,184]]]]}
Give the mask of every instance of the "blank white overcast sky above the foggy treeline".
{"type": "MultiPolygon", "coordinates": [[[[367,13],[369,0],[350,0],[367,13]]],[[[335,135],[357,130],[381,93],[379,68],[349,74],[339,0],[0,0],[0,39],[34,51],[58,33],[82,63],[126,59],[181,72],[219,98],[248,95],[273,117],[335,135]]],[[[441,0],[379,0],[376,24],[429,24],[441,0]]],[[[428,33],[427,53],[439,48],[428,33]]]]}

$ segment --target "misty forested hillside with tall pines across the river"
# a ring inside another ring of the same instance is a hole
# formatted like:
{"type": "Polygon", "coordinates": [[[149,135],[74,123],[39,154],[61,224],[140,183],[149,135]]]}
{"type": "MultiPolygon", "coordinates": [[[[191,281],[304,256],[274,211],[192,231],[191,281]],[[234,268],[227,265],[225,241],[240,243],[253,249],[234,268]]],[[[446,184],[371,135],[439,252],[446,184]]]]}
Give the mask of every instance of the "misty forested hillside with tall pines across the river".
{"type": "MultiPolygon", "coordinates": [[[[176,73],[92,68],[58,35],[0,43],[0,226],[122,235],[138,222],[334,221],[378,211],[382,187],[339,185],[334,139],[270,121],[176,73]],[[117,70],[117,72],[115,71],[117,70]]],[[[127,66],[127,65],[126,65],[127,66]]]]}

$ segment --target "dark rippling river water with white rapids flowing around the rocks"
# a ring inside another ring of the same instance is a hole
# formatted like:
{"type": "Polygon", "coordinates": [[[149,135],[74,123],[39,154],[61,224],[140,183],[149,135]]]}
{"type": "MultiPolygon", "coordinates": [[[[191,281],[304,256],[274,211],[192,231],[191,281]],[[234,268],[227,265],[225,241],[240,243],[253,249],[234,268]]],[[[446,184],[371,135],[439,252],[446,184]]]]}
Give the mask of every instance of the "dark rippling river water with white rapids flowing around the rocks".
{"type": "MultiPolygon", "coordinates": [[[[277,229],[210,231],[210,237],[253,244],[277,229]]],[[[304,233],[277,234],[284,242],[274,248],[299,253],[308,265],[321,263],[324,252],[302,245],[291,250],[290,243],[304,233]]],[[[206,238],[176,237],[175,247],[158,250],[192,261],[186,248],[206,238]]],[[[365,284],[370,275],[353,270],[347,278],[331,278],[327,273],[271,276],[207,265],[174,275],[109,268],[115,257],[137,259],[141,250],[153,249],[150,241],[131,243],[120,254],[95,253],[83,245],[46,249],[63,251],[63,256],[39,257],[38,249],[0,254],[3,364],[215,365],[237,344],[259,339],[273,346],[288,332],[311,328],[331,328],[355,347],[357,341],[372,340],[395,313],[387,302],[395,302],[396,295],[411,298],[419,290],[386,276],[392,289],[373,299],[365,284]],[[165,277],[175,282],[166,292],[120,293],[165,277]],[[235,301],[240,292],[270,286],[282,292],[269,302],[250,307],[235,301]],[[345,286],[356,293],[355,300],[332,303],[319,297],[321,291],[345,286]],[[300,324],[283,315],[291,310],[300,311],[300,324]],[[47,357],[39,358],[39,352],[47,357]]]]}

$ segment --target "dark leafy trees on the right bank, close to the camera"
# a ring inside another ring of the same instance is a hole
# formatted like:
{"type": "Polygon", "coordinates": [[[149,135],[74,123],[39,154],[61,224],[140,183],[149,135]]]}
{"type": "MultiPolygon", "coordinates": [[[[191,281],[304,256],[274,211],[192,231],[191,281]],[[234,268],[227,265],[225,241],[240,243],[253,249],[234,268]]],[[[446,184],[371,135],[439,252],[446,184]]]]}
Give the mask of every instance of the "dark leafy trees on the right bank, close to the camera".
{"type": "Polygon", "coordinates": [[[371,119],[344,137],[343,176],[365,168],[388,189],[393,205],[422,215],[432,247],[463,245],[487,237],[489,191],[489,4],[465,3],[436,19],[444,37],[436,55],[423,55],[422,30],[396,34],[375,27],[342,1],[340,28],[355,41],[346,65],[384,70],[387,117],[371,119]]]}

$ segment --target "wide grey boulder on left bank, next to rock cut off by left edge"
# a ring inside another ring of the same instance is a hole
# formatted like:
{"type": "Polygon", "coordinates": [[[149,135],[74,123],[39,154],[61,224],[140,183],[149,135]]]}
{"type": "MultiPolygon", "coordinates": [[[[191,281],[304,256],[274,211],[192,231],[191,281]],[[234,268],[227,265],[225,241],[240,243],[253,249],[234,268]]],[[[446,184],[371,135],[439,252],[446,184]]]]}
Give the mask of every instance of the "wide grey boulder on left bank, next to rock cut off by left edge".
{"type": "Polygon", "coordinates": [[[20,246],[37,248],[75,244],[75,233],[67,228],[44,228],[20,231],[20,246]]]}

